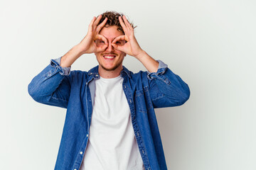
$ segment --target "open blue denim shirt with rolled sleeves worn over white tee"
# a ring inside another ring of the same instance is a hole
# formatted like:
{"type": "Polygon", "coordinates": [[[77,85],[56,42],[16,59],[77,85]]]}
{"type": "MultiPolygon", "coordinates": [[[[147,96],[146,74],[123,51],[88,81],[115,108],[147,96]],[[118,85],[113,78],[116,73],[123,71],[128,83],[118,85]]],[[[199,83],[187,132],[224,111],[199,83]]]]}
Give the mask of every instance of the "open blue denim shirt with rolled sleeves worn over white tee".
{"type": "MultiPolygon", "coordinates": [[[[134,135],[146,170],[167,169],[154,108],[180,106],[190,96],[188,85],[166,64],[158,62],[155,73],[134,74],[125,67],[121,72],[134,135]]],[[[51,60],[28,85],[28,93],[39,103],[67,108],[55,169],[78,170],[90,132],[95,79],[100,79],[100,74],[98,66],[89,72],[70,72],[59,63],[60,58],[51,60]]]]}

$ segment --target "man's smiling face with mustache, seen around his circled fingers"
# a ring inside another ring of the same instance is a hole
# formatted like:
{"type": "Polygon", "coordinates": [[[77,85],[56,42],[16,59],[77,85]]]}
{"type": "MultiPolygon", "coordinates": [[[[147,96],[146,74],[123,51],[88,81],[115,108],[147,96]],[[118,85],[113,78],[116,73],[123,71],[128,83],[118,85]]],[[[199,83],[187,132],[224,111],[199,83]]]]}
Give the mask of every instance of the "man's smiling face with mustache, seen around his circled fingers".
{"type": "MultiPolygon", "coordinates": [[[[124,35],[122,32],[117,30],[117,26],[103,27],[100,31],[100,35],[103,35],[108,42],[108,47],[103,52],[95,52],[97,61],[99,62],[99,67],[105,69],[106,71],[117,71],[122,70],[122,61],[126,55],[124,52],[115,50],[112,47],[111,43],[114,38],[117,38],[119,35],[124,35]]],[[[124,45],[124,40],[116,42],[117,45],[124,45]]],[[[102,40],[96,40],[96,45],[104,45],[102,40]]]]}

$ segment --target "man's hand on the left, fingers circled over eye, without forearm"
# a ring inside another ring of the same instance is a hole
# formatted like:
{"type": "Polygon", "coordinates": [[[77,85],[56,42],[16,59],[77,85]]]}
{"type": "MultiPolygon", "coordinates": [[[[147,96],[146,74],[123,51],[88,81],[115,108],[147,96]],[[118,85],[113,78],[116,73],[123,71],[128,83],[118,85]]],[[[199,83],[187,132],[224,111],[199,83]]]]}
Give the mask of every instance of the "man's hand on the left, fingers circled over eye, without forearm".
{"type": "Polygon", "coordinates": [[[100,30],[107,23],[107,18],[105,18],[105,20],[102,23],[100,23],[99,26],[97,26],[98,23],[100,22],[101,18],[102,18],[102,15],[98,16],[97,18],[95,18],[95,17],[92,18],[92,21],[90,22],[90,25],[88,28],[87,35],[78,44],[82,54],[101,52],[107,48],[107,46],[108,46],[107,39],[104,36],[99,34],[100,30]],[[104,42],[105,45],[97,46],[95,43],[95,40],[100,40],[100,41],[104,42]]]}

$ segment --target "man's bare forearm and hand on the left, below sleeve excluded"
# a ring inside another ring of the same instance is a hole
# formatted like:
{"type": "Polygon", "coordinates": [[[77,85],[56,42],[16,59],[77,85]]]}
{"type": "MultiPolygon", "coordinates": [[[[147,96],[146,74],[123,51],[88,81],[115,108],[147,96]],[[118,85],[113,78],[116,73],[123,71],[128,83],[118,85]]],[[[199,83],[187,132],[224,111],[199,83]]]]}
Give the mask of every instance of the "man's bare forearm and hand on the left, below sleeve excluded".
{"type": "Polygon", "coordinates": [[[99,26],[98,23],[100,22],[100,18],[102,18],[102,15],[92,18],[92,21],[89,25],[87,35],[85,38],[82,39],[82,41],[75,45],[71,50],[69,50],[63,57],[61,57],[60,60],[60,67],[70,67],[75,60],[78,59],[83,54],[90,54],[93,52],[101,52],[104,51],[107,46],[108,42],[107,39],[100,35],[100,30],[105,26],[107,23],[107,18],[100,23],[99,26]],[[104,42],[104,45],[97,46],[95,43],[95,40],[100,40],[104,42]]]}

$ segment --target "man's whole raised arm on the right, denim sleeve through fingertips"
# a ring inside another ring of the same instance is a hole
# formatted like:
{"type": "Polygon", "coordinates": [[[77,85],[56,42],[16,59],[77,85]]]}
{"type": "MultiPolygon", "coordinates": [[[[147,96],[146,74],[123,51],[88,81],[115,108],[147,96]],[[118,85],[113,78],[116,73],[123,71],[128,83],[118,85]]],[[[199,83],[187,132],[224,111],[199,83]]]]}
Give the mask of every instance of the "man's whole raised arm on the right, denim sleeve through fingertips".
{"type": "Polygon", "coordinates": [[[134,36],[134,28],[125,16],[119,17],[119,21],[124,30],[124,35],[115,38],[112,46],[136,57],[149,71],[147,75],[149,93],[154,108],[180,106],[185,103],[190,96],[188,85],[178,75],[171,72],[166,64],[161,61],[159,61],[161,63],[157,62],[139,47],[134,36]],[[118,40],[126,40],[126,43],[122,46],[117,45],[115,42],[118,40]]]}

